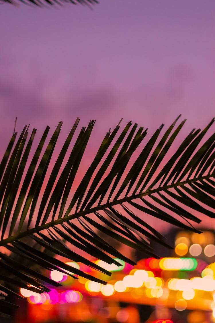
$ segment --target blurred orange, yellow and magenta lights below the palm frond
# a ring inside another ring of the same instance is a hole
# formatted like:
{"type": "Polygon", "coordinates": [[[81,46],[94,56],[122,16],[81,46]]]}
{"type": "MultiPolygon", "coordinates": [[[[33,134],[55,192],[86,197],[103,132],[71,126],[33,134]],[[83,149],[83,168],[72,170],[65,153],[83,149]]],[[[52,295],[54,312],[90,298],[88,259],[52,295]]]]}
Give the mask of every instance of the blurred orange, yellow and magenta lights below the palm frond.
{"type": "MultiPolygon", "coordinates": [[[[112,272],[105,274],[68,262],[104,279],[107,285],[56,270],[50,277],[62,287],[36,294],[21,288],[25,297],[16,312],[17,323],[212,323],[215,322],[215,235],[171,229],[167,234],[173,250],[152,244],[162,258],[141,258],[137,265],[108,265],[94,262],[112,272]]],[[[116,258],[115,258],[116,259],[116,258]]]]}

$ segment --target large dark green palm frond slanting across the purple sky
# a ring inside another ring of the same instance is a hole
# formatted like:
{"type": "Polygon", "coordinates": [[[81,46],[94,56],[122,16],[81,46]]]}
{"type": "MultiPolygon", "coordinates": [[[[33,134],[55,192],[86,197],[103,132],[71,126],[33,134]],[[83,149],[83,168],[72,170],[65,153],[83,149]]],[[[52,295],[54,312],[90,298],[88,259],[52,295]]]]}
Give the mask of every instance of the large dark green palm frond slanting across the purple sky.
{"type": "MultiPolygon", "coordinates": [[[[105,284],[81,270],[71,272],[63,260],[106,275],[111,273],[87,255],[119,266],[112,257],[135,264],[105,237],[157,257],[148,239],[171,246],[147,223],[148,216],[199,233],[193,223],[201,220],[194,213],[214,218],[215,133],[208,136],[214,119],[202,131],[192,130],[177,148],[175,138],[185,122],[174,130],[178,119],[163,135],[162,124],[149,139],[147,129],[136,123],[129,122],[122,131],[119,123],[107,132],[81,179],[79,169],[94,120],[74,140],[79,118],[75,121],[54,164],[62,122],[46,146],[49,127],[45,129],[35,150],[36,129],[28,141],[26,126],[17,141],[14,133],[0,164],[0,246],[11,253],[0,252],[0,293],[17,295],[18,287],[47,291],[45,284],[51,280],[43,269],[69,271],[75,279],[78,275],[105,284]]],[[[9,304],[1,300],[1,311],[9,304]]]]}

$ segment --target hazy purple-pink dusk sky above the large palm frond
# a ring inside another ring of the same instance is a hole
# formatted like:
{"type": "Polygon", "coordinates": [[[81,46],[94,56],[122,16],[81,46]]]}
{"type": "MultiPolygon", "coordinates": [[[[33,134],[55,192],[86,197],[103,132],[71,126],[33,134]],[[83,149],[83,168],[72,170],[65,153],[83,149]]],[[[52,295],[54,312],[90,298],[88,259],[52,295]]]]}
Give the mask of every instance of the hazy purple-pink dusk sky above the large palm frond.
{"type": "Polygon", "coordinates": [[[31,124],[42,133],[95,119],[93,143],[123,118],[182,133],[215,116],[215,1],[101,0],[0,10],[0,145],[31,124]]]}

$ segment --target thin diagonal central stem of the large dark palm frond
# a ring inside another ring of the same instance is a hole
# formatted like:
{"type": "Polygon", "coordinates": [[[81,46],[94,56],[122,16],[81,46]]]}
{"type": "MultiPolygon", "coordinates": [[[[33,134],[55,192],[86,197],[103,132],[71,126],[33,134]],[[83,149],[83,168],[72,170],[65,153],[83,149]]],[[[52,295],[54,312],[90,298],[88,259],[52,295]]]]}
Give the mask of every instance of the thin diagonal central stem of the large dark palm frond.
{"type": "Polygon", "coordinates": [[[215,172],[213,172],[211,174],[208,174],[208,175],[205,175],[205,176],[194,177],[192,179],[187,179],[187,180],[182,181],[182,182],[176,182],[176,183],[169,184],[169,185],[159,186],[159,187],[157,187],[157,188],[155,188],[153,190],[146,190],[143,193],[139,193],[139,194],[135,194],[135,195],[131,195],[131,196],[126,196],[126,197],[124,197],[122,199],[119,199],[119,200],[113,200],[112,202],[97,205],[97,206],[95,206],[95,207],[93,207],[91,209],[85,209],[85,210],[80,211],[80,212],[75,212],[75,213],[73,213],[71,215],[68,215],[67,217],[62,217],[61,219],[57,219],[57,220],[48,222],[46,224],[42,224],[40,226],[37,226],[36,228],[28,229],[28,230],[26,230],[24,232],[20,232],[20,233],[17,233],[15,235],[12,235],[12,236],[10,236],[8,238],[5,238],[5,239],[0,241],[0,246],[4,246],[4,245],[6,245],[8,243],[14,242],[15,240],[24,238],[24,237],[26,237],[26,236],[28,236],[30,234],[40,232],[42,230],[48,229],[50,227],[54,227],[55,225],[58,225],[58,224],[61,224],[61,223],[64,223],[64,222],[68,222],[70,220],[79,218],[80,216],[84,216],[86,214],[90,214],[90,213],[94,213],[96,211],[104,210],[104,209],[109,208],[109,207],[114,206],[114,205],[120,205],[122,203],[129,202],[129,201],[135,200],[137,198],[141,198],[143,196],[148,196],[148,195],[151,195],[153,193],[159,193],[159,192],[162,192],[162,191],[167,191],[168,189],[171,189],[171,188],[174,188],[174,187],[183,186],[185,184],[201,181],[203,179],[209,179],[210,177],[214,177],[214,176],[215,176],[215,172]]]}

